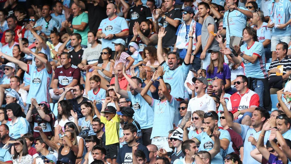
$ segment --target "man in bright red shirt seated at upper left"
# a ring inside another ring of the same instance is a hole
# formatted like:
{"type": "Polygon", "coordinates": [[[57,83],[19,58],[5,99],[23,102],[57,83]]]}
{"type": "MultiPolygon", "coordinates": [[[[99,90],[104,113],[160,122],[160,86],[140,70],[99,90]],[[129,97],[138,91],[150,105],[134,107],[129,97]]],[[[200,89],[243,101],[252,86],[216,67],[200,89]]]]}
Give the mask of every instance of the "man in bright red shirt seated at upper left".
{"type": "MultiPolygon", "coordinates": [[[[8,24],[8,28],[15,32],[16,35],[15,35],[14,41],[18,43],[17,30],[21,29],[21,26],[17,25],[17,18],[14,15],[7,17],[7,24],[8,24]]],[[[3,36],[5,36],[6,31],[4,31],[3,36]]],[[[24,36],[24,32],[25,32],[25,28],[21,31],[22,36],[24,36]]],[[[2,43],[2,45],[7,44],[5,42],[5,37],[2,37],[1,43],[2,43]]]]}

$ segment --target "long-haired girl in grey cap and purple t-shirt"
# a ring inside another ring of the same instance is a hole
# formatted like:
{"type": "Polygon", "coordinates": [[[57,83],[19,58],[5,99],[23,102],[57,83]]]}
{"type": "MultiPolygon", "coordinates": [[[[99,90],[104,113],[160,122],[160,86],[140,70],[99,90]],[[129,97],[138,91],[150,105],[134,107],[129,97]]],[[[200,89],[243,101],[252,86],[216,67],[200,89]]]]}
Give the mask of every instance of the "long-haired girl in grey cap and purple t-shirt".
{"type": "MultiPolygon", "coordinates": [[[[210,50],[210,64],[206,68],[206,78],[211,78],[214,81],[216,78],[220,78],[224,81],[225,92],[232,94],[231,86],[231,76],[228,64],[224,63],[223,55],[219,50],[210,50]]],[[[209,51],[208,51],[209,52],[209,51]]],[[[207,93],[212,94],[213,88],[207,88],[207,93]]]]}

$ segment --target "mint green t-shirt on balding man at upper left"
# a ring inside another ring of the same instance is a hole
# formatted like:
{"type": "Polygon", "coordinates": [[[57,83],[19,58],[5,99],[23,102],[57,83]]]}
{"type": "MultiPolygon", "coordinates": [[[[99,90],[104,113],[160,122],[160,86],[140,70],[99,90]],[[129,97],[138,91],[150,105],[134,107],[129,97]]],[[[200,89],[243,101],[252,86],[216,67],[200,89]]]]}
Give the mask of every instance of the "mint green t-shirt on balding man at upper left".
{"type": "MultiPolygon", "coordinates": [[[[81,25],[81,22],[88,23],[88,14],[87,13],[83,12],[80,15],[74,17],[72,20],[72,25],[81,25]]],[[[88,31],[89,31],[89,25],[86,25],[86,27],[83,31],[74,29],[74,33],[78,33],[82,36],[81,44],[83,44],[83,45],[87,45],[88,31]]]]}

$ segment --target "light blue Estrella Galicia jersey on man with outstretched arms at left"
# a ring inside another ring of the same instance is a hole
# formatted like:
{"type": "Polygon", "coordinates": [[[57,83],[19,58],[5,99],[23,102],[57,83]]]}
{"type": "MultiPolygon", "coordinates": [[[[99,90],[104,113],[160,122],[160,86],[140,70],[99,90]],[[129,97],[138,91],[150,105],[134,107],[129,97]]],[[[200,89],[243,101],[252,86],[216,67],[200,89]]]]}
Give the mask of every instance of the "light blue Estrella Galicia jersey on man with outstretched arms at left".
{"type": "Polygon", "coordinates": [[[30,90],[27,95],[26,104],[31,104],[30,99],[36,98],[38,103],[49,102],[49,86],[52,81],[52,70],[48,72],[46,68],[38,71],[36,66],[27,64],[27,73],[30,75],[30,90]]]}

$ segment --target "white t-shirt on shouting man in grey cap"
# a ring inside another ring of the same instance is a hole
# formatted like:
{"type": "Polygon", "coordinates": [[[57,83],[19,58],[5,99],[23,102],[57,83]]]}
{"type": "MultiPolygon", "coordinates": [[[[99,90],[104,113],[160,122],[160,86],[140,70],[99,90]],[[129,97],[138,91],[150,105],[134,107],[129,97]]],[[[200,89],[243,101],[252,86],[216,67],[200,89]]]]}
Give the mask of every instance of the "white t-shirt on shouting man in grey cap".
{"type": "Polygon", "coordinates": [[[206,93],[202,97],[198,98],[196,96],[194,98],[191,98],[188,103],[187,111],[191,111],[192,116],[193,112],[197,110],[204,111],[205,113],[208,111],[215,111],[216,106],[213,98],[207,95],[206,93]]]}

